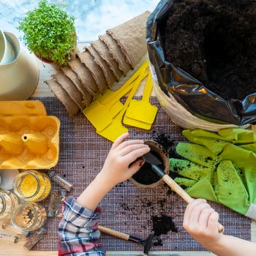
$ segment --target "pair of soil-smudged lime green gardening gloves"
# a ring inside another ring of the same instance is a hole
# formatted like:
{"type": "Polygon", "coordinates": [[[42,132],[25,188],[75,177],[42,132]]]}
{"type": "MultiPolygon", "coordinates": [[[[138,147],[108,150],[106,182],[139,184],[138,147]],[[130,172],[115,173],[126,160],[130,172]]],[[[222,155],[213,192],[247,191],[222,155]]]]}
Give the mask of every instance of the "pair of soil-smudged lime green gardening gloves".
{"type": "Polygon", "coordinates": [[[256,135],[247,129],[184,130],[184,159],[170,158],[175,181],[192,197],[205,198],[256,220],[256,135]]]}

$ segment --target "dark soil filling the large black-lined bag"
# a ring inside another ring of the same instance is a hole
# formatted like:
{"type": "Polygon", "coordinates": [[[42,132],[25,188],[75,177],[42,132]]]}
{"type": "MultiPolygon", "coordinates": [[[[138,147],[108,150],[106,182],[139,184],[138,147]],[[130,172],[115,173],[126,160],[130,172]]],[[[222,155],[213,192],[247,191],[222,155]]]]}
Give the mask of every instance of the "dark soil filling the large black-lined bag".
{"type": "Polygon", "coordinates": [[[161,24],[165,57],[224,99],[256,92],[256,3],[174,0],[161,24]]]}

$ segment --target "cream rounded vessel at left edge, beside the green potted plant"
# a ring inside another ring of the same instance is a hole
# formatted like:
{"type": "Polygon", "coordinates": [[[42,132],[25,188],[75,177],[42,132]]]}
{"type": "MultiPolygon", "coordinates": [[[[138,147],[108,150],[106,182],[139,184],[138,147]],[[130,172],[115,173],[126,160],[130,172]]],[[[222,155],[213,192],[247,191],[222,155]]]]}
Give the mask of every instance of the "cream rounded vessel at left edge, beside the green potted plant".
{"type": "Polygon", "coordinates": [[[39,69],[14,34],[0,30],[0,100],[24,100],[34,92],[39,69]]]}

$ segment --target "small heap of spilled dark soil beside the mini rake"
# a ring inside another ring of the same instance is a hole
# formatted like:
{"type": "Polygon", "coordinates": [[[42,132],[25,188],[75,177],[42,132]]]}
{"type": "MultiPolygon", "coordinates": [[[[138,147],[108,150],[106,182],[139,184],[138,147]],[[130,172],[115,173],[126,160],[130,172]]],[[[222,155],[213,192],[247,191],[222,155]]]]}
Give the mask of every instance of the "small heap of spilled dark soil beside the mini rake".
{"type": "Polygon", "coordinates": [[[162,216],[153,216],[152,223],[155,236],[166,235],[170,230],[176,233],[178,232],[172,217],[165,214],[162,214],[162,216]]]}

